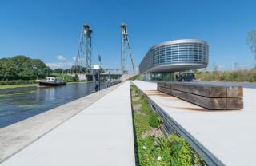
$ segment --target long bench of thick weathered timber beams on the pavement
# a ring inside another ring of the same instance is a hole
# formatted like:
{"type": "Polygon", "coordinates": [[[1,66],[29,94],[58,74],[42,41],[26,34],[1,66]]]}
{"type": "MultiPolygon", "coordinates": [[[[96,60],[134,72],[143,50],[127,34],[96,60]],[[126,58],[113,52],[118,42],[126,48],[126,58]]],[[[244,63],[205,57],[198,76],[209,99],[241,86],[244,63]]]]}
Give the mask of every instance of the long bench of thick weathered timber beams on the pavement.
{"type": "Polygon", "coordinates": [[[206,109],[243,109],[242,86],[158,82],[158,90],[206,109]]]}

